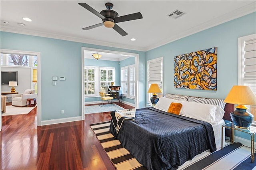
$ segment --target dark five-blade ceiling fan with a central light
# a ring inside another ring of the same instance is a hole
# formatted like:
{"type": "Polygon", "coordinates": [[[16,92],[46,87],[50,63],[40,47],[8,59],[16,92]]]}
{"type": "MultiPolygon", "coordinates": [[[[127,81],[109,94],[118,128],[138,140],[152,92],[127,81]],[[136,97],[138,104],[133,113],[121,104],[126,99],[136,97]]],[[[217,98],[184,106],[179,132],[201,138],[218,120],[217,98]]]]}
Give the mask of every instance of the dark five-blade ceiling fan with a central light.
{"type": "Polygon", "coordinates": [[[137,20],[142,18],[142,14],[140,12],[137,12],[134,14],[128,14],[124,16],[118,16],[118,13],[116,11],[111,10],[114,5],[110,2],[105,4],[107,10],[102,10],[100,13],[94,10],[92,7],[90,7],[86,3],[78,3],[78,4],[102,19],[102,23],[95,24],[93,26],[89,26],[86,28],[82,28],[82,30],[90,30],[92,28],[96,28],[104,25],[107,28],[113,28],[114,30],[116,30],[116,32],[121,34],[121,36],[126,36],[128,33],[125,32],[122,28],[120,28],[116,23],[130,21],[130,20],[137,20]]]}

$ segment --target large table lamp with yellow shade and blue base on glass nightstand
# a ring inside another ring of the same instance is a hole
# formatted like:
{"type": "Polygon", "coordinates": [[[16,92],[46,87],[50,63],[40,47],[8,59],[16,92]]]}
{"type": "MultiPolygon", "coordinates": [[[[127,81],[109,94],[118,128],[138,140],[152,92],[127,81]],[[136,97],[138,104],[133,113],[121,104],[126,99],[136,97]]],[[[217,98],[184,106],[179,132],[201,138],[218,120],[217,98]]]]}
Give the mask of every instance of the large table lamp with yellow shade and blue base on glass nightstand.
{"type": "Polygon", "coordinates": [[[230,113],[230,117],[238,128],[248,129],[253,121],[253,115],[246,111],[244,105],[256,105],[256,96],[249,86],[234,85],[228,93],[225,103],[237,104],[236,110],[230,113]]]}

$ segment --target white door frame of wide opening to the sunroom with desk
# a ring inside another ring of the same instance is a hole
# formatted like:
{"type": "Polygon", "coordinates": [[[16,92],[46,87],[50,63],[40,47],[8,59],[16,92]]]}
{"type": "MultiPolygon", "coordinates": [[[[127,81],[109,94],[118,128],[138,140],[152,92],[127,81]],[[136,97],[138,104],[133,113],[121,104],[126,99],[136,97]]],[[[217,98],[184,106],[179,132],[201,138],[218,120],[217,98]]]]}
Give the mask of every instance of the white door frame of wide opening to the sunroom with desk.
{"type": "Polygon", "coordinates": [[[112,50],[105,50],[105,49],[96,49],[96,48],[88,48],[88,47],[82,47],[82,120],[84,120],[84,51],[98,51],[105,52],[105,53],[114,53],[114,54],[124,54],[124,55],[133,55],[134,56],[134,67],[135,67],[135,108],[138,108],[139,106],[139,89],[138,89],[138,81],[139,81],[139,73],[138,73],[138,66],[139,66],[139,54],[137,53],[126,53],[126,52],[120,52],[120,51],[112,51],[112,50]]]}

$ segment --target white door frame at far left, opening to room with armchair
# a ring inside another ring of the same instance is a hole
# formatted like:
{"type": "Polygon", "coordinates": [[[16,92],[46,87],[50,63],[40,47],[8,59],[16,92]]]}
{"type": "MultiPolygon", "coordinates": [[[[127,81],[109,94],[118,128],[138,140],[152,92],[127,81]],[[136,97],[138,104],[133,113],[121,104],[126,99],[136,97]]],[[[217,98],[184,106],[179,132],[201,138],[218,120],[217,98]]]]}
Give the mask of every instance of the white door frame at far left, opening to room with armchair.
{"type": "MultiPolygon", "coordinates": [[[[34,52],[34,51],[21,51],[21,50],[12,50],[12,49],[0,49],[0,53],[7,53],[7,54],[24,54],[24,55],[36,55],[37,56],[37,126],[41,126],[41,53],[34,52]]],[[[1,69],[0,69],[1,71],[1,69]]],[[[1,81],[1,79],[0,79],[1,81]]],[[[2,90],[2,89],[1,89],[2,90]]],[[[2,108],[1,108],[2,109],[2,108]]],[[[0,130],[2,130],[2,115],[1,118],[1,125],[0,130]]]]}

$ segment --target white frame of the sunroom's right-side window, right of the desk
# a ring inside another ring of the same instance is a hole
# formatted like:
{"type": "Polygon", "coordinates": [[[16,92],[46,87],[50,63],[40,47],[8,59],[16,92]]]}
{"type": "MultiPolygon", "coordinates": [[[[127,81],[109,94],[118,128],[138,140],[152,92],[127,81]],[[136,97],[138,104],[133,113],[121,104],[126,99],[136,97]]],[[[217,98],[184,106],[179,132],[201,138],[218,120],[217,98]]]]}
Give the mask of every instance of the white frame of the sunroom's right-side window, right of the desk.
{"type": "MultiPolygon", "coordinates": [[[[130,99],[135,99],[135,95],[130,95],[130,83],[136,83],[136,73],[135,73],[135,65],[132,64],[132,65],[127,65],[127,66],[124,66],[124,67],[121,67],[121,72],[120,72],[120,80],[121,80],[121,84],[122,83],[126,83],[128,84],[128,91],[127,91],[127,95],[124,94],[124,90],[122,91],[122,95],[124,97],[127,97],[127,98],[130,98],[130,99]],[[134,81],[130,81],[130,67],[134,67],[134,81]],[[127,81],[122,81],[122,70],[124,69],[127,69],[128,71],[128,77],[127,77],[127,81]]],[[[123,87],[124,88],[124,87],[123,87]]],[[[136,88],[136,84],[134,85],[134,91],[135,91],[135,88],[136,88]]],[[[135,92],[134,92],[135,93],[135,92]]]]}

